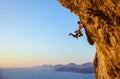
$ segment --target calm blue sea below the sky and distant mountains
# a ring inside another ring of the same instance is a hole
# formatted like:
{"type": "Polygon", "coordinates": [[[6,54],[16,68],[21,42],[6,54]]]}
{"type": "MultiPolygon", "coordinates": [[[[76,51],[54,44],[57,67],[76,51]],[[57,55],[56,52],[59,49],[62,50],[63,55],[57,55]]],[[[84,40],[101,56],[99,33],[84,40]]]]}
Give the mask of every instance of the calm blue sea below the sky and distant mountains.
{"type": "Polygon", "coordinates": [[[1,69],[0,79],[95,79],[95,74],[39,70],[34,68],[1,69]]]}

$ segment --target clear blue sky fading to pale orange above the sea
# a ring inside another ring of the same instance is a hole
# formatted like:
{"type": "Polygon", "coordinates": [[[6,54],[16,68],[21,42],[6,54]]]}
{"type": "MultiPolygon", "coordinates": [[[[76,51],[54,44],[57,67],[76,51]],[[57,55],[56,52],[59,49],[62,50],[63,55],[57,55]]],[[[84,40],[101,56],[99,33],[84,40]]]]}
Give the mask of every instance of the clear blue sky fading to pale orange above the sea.
{"type": "Polygon", "coordinates": [[[0,0],[0,67],[93,62],[84,29],[68,36],[78,20],[57,0],[0,0]]]}

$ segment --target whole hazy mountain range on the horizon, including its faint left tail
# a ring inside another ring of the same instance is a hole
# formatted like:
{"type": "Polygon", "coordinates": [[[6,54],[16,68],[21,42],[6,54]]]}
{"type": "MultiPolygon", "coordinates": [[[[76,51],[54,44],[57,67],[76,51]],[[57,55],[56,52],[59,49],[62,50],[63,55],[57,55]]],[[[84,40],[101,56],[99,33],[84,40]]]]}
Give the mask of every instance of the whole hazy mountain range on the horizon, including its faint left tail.
{"type": "Polygon", "coordinates": [[[77,73],[94,73],[94,66],[92,62],[87,62],[84,64],[69,63],[67,65],[57,64],[57,65],[42,65],[36,66],[35,68],[41,70],[54,70],[54,71],[66,71],[66,72],[77,72],[77,73]]]}

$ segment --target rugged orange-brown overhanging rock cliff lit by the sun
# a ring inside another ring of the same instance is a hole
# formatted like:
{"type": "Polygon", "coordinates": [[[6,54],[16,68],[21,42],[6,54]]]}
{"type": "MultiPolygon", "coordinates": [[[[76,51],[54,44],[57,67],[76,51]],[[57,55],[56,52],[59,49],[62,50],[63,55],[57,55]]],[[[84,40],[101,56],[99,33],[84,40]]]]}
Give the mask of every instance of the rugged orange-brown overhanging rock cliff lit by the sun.
{"type": "Polygon", "coordinates": [[[120,0],[58,0],[84,25],[96,45],[96,79],[120,79],[120,0]]]}

